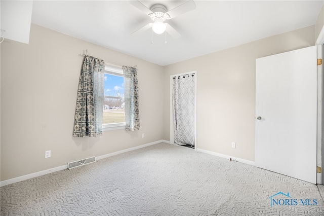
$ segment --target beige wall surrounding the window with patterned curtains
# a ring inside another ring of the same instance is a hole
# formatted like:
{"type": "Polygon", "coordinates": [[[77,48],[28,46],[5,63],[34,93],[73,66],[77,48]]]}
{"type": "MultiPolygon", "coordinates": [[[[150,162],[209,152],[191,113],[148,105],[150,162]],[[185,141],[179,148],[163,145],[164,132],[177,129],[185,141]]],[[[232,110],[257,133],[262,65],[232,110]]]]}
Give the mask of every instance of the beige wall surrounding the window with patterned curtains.
{"type": "Polygon", "coordinates": [[[1,181],[163,138],[162,66],[32,24],[29,45],[1,44],[1,77],[1,181]],[[137,64],[139,131],[72,137],[83,61],[78,54],[85,49],[115,64],[137,64]]]}

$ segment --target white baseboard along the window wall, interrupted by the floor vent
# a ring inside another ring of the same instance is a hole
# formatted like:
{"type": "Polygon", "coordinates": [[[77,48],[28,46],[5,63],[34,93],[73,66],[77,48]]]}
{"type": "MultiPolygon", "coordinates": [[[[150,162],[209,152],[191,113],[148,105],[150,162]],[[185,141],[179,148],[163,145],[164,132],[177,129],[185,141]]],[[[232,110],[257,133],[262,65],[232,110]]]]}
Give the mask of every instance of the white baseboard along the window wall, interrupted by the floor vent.
{"type": "MultiPolygon", "coordinates": [[[[113,153],[102,155],[102,156],[97,156],[95,158],[96,158],[96,161],[97,161],[97,160],[104,159],[104,158],[107,158],[107,157],[111,157],[111,156],[114,156],[114,155],[118,155],[118,154],[121,154],[121,153],[130,152],[130,151],[133,151],[133,150],[136,150],[136,149],[141,149],[141,148],[144,148],[144,147],[152,146],[152,145],[155,145],[155,144],[160,143],[160,142],[165,142],[165,141],[164,140],[157,140],[157,141],[154,141],[154,142],[146,143],[146,144],[141,145],[141,146],[121,150],[121,151],[118,151],[118,152],[113,152],[113,153]]],[[[52,173],[52,172],[57,172],[57,171],[60,171],[60,170],[63,170],[63,169],[67,169],[67,164],[62,165],[62,166],[58,166],[58,167],[54,167],[54,168],[51,168],[51,169],[42,170],[42,171],[27,174],[27,175],[22,175],[22,176],[19,176],[19,177],[11,178],[11,179],[8,179],[8,180],[5,180],[5,181],[1,181],[0,182],[0,187],[10,185],[10,184],[13,184],[13,183],[17,183],[17,182],[21,182],[21,181],[24,181],[24,180],[27,180],[27,179],[30,179],[30,178],[34,178],[34,177],[38,177],[38,176],[41,176],[41,175],[46,175],[46,174],[49,174],[49,173],[52,173]]]]}

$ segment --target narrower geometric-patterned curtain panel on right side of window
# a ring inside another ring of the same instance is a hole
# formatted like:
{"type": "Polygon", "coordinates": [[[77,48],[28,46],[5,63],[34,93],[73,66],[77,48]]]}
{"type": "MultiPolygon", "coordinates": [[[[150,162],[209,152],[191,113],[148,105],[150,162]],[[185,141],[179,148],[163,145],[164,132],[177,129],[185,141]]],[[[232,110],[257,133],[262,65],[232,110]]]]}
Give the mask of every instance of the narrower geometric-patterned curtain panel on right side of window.
{"type": "Polygon", "coordinates": [[[140,129],[140,115],[138,105],[138,81],[135,67],[123,66],[125,88],[125,120],[126,130],[140,129]]]}

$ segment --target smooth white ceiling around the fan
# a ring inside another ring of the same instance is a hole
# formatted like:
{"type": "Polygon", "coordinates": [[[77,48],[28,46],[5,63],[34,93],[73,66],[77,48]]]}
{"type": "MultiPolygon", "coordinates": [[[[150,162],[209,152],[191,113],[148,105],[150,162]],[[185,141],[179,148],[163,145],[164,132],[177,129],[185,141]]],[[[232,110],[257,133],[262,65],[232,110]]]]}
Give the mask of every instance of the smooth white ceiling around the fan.
{"type": "MultiPolygon", "coordinates": [[[[161,3],[168,10],[185,1],[161,3]]],[[[195,1],[196,9],[168,22],[182,35],[173,39],[151,30],[151,22],[128,1],[34,1],[32,23],[138,58],[168,65],[291,31],[316,22],[324,1],[195,1]]],[[[86,47],[80,47],[81,50],[86,47]]],[[[91,50],[89,50],[91,54],[91,50]]]]}

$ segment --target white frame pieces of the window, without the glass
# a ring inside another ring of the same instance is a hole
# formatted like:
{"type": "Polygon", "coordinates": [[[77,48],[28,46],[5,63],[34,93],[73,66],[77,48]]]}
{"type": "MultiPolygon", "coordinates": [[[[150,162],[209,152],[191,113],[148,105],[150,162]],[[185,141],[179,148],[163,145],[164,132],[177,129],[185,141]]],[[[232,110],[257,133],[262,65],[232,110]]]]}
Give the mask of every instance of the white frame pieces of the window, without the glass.
{"type": "MultiPolygon", "coordinates": [[[[105,63],[105,74],[124,77],[123,67],[112,66],[105,63]]],[[[120,98],[117,96],[104,96],[105,98],[120,98]]],[[[102,131],[126,129],[126,122],[102,124],[102,131]]]]}

